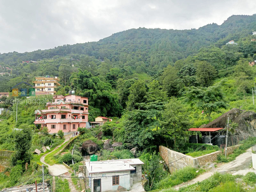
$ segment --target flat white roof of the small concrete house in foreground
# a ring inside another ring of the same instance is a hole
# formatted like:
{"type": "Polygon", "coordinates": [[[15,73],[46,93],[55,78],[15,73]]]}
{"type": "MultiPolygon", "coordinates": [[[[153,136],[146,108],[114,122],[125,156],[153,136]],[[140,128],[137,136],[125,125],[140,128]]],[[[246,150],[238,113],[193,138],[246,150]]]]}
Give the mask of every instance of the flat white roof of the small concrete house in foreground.
{"type": "Polygon", "coordinates": [[[108,161],[86,162],[86,168],[91,173],[123,172],[135,170],[132,165],[144,164],[140,159],[117,159],[108,161]]]}

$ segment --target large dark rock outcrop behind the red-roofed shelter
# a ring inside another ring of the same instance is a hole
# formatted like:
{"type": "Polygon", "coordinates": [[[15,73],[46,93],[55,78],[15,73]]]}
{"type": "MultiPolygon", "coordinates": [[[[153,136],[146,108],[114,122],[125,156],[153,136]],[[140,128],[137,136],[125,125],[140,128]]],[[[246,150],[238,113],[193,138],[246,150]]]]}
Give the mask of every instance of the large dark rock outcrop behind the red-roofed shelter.
{"type": "MultiPolygon", "coordinates": [[[[205,125],[204,128],[224,128],[227,126],[228,117],[230,123],[238,124],[237,130],[256,136],[256,113],[237,108],[233,108],[214,119],[211,123],[205,125]]],[[[241,134],[241,132],[238,132],[238,134],[241,134]]]]}

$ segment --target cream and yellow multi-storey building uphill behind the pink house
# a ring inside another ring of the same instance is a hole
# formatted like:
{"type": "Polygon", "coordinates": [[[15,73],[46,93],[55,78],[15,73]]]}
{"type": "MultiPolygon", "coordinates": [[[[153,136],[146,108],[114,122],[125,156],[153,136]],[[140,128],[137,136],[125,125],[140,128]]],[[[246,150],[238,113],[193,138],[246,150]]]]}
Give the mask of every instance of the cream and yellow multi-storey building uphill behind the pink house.
{"type": "Polygon", "coordinates": [[[54,94],[54,91],[57,86],[60,85],[60,79],[58,77],[50,77],[50,76],[39,76],[35,77],[36,80],[33,81],[36,87],[36,95],[46,95],[46,94],[54,94]]]}

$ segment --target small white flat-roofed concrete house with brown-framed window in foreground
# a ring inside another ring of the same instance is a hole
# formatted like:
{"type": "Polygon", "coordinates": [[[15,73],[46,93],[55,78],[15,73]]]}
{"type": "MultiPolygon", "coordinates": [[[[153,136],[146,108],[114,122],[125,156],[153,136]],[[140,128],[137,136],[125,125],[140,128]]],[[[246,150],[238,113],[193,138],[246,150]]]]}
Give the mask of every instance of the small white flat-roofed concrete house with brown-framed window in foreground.
{"type": "Polygon", "coordinates": [[[142,180],[140,159],[118,159],[86,162],[86,177],[89,177],[91,192],[114,192],[118,186],[130,190],[142,180]]]}

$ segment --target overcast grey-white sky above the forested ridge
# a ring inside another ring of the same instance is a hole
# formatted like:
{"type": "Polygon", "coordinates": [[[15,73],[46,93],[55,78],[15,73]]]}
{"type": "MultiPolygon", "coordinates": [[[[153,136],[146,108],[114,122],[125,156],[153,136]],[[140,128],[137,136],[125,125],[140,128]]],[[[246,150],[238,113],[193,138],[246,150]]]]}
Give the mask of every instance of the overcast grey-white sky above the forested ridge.
{"type": "Polygon", "coordinates": [[[255,0],[1,0],[0,52],[98,41],[130,28],[191,29],[256,13],[255,0]]]}

